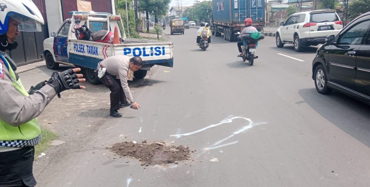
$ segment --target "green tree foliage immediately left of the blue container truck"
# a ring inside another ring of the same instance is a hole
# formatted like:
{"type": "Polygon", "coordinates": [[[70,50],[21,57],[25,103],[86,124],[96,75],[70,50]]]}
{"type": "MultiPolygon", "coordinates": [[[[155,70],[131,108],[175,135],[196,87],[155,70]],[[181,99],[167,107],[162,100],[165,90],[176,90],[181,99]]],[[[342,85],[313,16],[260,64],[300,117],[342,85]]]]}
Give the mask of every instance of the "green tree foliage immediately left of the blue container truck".
{"type": "Polygon", "coordinates": [[[186,8],[182,13],[188,20],[201,22],[208,21],[211,18],[212,1],[202,1],[191,8],[186,8]]]}

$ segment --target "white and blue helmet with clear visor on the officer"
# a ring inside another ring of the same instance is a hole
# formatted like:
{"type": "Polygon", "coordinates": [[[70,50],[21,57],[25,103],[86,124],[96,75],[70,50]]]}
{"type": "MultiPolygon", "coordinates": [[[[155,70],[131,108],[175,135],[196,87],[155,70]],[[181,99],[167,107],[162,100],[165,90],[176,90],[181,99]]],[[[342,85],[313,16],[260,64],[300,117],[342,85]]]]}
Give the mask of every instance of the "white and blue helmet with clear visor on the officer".
{"type": "Polygon", "coordinates": [[[20,24],[19,31],[41,31],[44,19],[31,0],[0,0],[0,35],[8,31],[9,18],[20,24]]]}

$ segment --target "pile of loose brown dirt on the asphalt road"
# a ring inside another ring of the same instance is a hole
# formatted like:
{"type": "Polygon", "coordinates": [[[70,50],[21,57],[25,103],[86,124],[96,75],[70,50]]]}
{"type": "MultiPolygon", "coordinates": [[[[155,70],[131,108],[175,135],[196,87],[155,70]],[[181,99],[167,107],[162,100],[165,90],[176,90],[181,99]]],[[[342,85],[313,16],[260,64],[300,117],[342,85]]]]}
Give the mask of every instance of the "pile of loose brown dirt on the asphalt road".
{"type": "Polygon", "coordinates": [[[147,143],[122,142],[115,143],[111,150],[120,156],[139,159],[142,166],[177,164],[183,160],[190,160],[189,146],[167,145],[163,141],[147,143]]]}

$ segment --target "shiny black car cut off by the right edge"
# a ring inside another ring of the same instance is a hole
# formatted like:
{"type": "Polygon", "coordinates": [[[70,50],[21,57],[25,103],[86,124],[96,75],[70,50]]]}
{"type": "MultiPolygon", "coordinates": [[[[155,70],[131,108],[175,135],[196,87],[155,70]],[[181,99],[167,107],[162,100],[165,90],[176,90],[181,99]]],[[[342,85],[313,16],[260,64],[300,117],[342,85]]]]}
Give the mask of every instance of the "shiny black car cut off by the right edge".
{"type": "Polygon", "coordinates": [[[370,12],[325,41],[312,62],[317,91],[335,89],[370,104],[370,12]]]}

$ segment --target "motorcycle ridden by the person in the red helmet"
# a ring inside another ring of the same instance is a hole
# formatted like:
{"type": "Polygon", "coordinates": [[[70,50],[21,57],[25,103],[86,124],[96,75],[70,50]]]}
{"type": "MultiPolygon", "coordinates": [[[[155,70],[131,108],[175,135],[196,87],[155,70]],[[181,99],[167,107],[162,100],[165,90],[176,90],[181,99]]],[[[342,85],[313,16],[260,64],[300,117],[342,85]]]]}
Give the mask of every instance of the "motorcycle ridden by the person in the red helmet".
{"type": "MultiPolygon", "coordinates": [[[[238,32],[240,35],[240,32],[238,32]]],[[[238,36],[239,38],[239,36],[238,36]]],[[[239,38],[243,41],[242,51],[244,56],[242,57],[243,61],[245,62],[248,60],[250,66],[253,66],[254,59],[258,59],[258,56],[255,56],[256,47],[258,45],[258,41],[264,39],[265,36],[263,34],[260,35],[260,38],[254,39],[249,34],[243,34],[242,38],[239,38]]]]}

